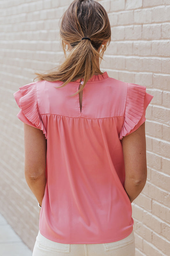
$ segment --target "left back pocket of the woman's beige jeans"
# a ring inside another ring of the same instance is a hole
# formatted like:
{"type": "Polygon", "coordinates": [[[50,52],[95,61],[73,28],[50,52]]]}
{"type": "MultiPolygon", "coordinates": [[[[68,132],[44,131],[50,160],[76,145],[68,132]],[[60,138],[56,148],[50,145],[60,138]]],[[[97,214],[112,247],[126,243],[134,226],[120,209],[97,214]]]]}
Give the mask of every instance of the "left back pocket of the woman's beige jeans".
{"type": "Polygon", "coordinates": [[[39,247],[50,252],[70,252],[70,244],[62,244],[49,240],[40,234],[39,247]]]}

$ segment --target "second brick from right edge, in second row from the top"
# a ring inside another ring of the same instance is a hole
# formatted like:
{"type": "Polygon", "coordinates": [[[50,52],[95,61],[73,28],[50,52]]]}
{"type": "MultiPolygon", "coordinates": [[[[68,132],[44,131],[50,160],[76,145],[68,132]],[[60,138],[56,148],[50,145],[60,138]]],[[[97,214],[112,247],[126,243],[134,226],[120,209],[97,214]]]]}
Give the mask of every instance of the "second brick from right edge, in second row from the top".
{"type": "Polygon", "coordinates": [[[152,9],[134,10],[134,23],[143,24],[152,22],[152,9]]]}

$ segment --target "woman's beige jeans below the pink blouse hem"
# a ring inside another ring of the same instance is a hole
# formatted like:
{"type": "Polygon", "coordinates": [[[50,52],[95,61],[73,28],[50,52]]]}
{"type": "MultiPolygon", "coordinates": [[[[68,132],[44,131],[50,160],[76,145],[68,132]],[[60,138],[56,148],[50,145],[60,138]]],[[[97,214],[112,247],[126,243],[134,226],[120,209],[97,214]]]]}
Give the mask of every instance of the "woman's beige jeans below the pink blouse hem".
{"type": "Polygon", "coordinates": [[[134,232],[122,240],[106,244],[61,244],[40,234],[36,237],[33,256],[134,256],[134,232]]]}

